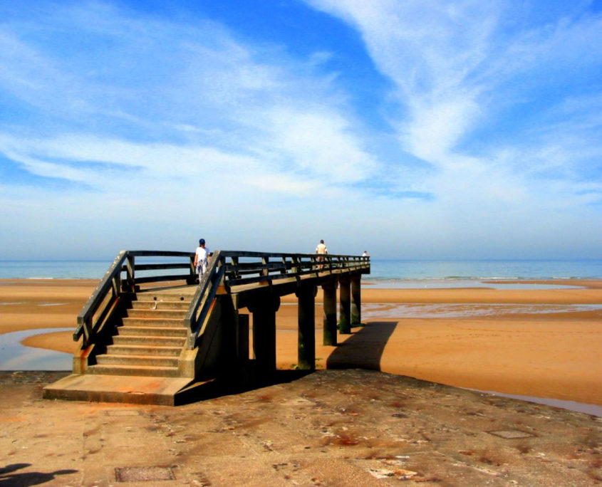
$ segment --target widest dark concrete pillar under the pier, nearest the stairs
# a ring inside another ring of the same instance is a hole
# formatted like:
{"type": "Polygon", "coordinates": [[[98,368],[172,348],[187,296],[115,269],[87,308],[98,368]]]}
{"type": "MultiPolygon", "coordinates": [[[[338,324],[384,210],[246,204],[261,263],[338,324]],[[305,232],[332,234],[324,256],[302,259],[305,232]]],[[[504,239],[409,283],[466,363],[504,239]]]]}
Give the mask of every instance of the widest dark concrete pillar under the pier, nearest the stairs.
{"type": "Polygon", "coordinates": [[[269,374],[276,370],[276,311],[280,297],[258,293],[249,305],[253,313],[253,357],[257,371],[269,374]]]}

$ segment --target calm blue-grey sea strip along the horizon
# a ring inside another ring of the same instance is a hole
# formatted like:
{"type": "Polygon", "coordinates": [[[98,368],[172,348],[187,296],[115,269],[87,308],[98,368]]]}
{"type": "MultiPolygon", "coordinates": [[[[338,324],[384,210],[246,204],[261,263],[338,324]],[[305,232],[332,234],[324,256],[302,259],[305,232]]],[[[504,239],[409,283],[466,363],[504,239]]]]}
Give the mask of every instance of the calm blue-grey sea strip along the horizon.
{"type": "MultiPolygon", "coordinates": [[[[103,277],[108,261],[0,261],[0,278],[103,277]]],[[[371,260],[370,281],[481,281],[483,279],[602,279],[602,259],[593,260],[479,260],[414,261],[371,260]]]]}

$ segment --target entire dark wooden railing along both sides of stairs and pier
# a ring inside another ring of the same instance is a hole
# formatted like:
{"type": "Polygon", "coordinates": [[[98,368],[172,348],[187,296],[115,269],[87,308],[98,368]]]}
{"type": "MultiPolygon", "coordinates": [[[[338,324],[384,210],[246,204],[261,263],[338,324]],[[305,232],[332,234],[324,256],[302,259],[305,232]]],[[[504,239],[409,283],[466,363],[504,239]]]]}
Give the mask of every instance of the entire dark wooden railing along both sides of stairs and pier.
{"type": "MultiPolygon", "coordinates": [[[[110,322],[118,308],[120,296],[137,290],[143,283],[186,281],[194,283],[194,253],[170,251],[121,251],[78,315],[73,340],[83,335],[83,347],[93,342],[96,333],[110,322]],[[183,258],[180,263],[138,263],[136,258],[183,258]],[[158,273],[172,269],[187,269],[186,273],[158,273]],[[153,271],[153,276],[139,276],[140,271],[153,271]],[[125,278],[122,274],[125,273],[125,278]]],[[[301,281],[341,273],[369,273],[370,258],[360,256],[318,255],[315,253],[265,253],[245,251],[216,251],[207,266],[202,281],[184,318],[189,330],[188,347],[196,346],[207,324],[214,297],[220,285],[236,293],[240,286],[301,281]]]]}

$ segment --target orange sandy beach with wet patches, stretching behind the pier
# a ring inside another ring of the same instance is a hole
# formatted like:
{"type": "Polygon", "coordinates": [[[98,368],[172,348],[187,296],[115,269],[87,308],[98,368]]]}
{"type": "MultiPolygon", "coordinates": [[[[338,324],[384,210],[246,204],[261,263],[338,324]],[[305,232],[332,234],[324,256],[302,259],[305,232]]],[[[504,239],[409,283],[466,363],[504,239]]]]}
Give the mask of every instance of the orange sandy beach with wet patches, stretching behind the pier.
{"type": "MultiPolygon", "coordinates": [[[[0,280],[0,335],[75,327],[95,280],[0,280]]],[[[364,367],[483,391],[602,405],[602,281],[512,281],[526,286],[445,289],[362,288],[364,327],[322,343],[316,296],[318,369],[364,367]],[[570,283],[570,288],[566,288],[570,283]],[[553,288],[554,286],[562,288],[553,288]]],[[[277,314],[277,365],[296,364],[297,309],[277,314]]],[[[73,352],[71,332],[24,345],[73,352]]]]}

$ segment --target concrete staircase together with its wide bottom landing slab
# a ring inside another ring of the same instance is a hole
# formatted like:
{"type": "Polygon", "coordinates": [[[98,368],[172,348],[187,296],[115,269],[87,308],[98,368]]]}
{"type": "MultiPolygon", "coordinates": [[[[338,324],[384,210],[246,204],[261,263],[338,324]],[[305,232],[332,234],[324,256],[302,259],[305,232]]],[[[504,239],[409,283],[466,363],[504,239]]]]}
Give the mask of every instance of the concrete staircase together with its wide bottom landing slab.
{"type": "Polygon", "coordinates": [[[176,404],[177,394],[194,381],[194,377],[182,373],[179,362],[186,349],[184,318],[196,288],[182,286],[133,294],[125,302],[106,352],[99,352],[96,363],[88,365],[85,373],[46,386],[43,397],[176,404]]]}

